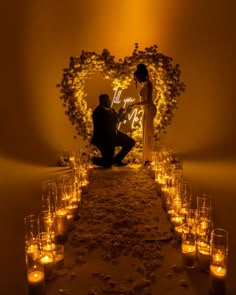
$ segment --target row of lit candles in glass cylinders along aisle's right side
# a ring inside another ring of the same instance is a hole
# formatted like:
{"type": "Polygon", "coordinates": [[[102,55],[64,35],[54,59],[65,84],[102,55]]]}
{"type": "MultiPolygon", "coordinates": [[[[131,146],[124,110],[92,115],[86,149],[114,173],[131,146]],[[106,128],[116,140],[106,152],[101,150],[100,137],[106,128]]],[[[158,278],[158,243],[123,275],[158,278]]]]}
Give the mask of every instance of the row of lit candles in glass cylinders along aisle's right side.
{"type": "Polygon", "coordinates": [[[183,267],[208,272],[210,294],[225,294],[228,232],[214,228],[211,196],[193,198],[183,163],[166,146],[153,152],[150,173],[161,188],[175,240],[181,244],[183,267]]]}

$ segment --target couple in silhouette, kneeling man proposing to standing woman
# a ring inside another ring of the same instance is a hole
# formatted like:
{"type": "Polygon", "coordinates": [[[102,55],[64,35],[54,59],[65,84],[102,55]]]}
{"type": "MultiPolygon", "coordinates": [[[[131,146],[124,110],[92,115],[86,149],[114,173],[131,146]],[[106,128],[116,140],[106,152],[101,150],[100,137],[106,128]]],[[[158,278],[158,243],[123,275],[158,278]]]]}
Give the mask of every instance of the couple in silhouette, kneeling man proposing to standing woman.
{"type": "Polygon", "coordinates": [[[139,84],[140,101],[130,104],[127,109],[121,108],[116,112],[111,107],[111,99],[108,94],[99,96],[99,106],[93,112],[94,132],[91,144],[96,145],[102,157],[94,157],[93,163],[104,168],[112,165],[125,166],[122,160],[134,147],[133,138],[119,131],[117,126],[127,118],[127,114],[134,106],[140,106],[144,110],[143,129],[143,166],[146,167],[152,160],[154,147],[154,118],[157,114],[156,104],[153,101],[153,85],[149,79],[149,72],[145,64],[138,64],[134,72],[136,88],[139,84]],[[120,146],[121,150],[114,156],[115,147],[120,146]]]}

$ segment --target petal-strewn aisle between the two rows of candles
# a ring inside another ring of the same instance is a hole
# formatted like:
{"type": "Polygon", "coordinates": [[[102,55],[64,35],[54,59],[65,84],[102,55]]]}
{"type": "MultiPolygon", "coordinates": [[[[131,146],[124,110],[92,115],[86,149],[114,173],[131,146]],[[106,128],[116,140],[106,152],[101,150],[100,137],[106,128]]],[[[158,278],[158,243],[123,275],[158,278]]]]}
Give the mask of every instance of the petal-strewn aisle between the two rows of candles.
{"type": "Polygon", "coordinates": [[[148,171],[139,166],[94,169],[65,244],[65,267],[47,283],[47,295],[204,295],[206,285],[201,293],[195,287],[207,278],[199,272],[192,277],[182,268],[148,171]]]}

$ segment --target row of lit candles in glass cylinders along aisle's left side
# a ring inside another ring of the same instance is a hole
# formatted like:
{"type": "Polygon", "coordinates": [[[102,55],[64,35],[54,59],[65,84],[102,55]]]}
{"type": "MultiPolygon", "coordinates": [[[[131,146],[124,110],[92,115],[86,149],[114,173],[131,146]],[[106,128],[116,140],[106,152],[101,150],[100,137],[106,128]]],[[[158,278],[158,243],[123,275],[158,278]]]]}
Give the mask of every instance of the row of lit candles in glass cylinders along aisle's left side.
{"type": "Polygon", "coordinates": [[[87,154],[70,153],[67,173],[42,182],[42,208],[25,216],[26,276],[29,295],[45,294],[45,281],[64,266],[64,243],[79,218],[92,173],[87,154]]]}

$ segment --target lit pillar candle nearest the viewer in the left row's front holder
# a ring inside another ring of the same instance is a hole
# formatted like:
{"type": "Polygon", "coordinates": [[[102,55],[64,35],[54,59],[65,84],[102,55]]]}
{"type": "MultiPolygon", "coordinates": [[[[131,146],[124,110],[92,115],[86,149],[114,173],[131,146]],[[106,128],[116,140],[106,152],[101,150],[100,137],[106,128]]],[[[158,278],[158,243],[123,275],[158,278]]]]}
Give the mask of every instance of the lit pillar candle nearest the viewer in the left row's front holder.
{"type": "Polygon", "coordinates": [[[27,275],[29,295],[45,294],[44,273],[42,271],[32,271],[27,275]]]}

